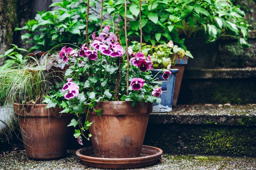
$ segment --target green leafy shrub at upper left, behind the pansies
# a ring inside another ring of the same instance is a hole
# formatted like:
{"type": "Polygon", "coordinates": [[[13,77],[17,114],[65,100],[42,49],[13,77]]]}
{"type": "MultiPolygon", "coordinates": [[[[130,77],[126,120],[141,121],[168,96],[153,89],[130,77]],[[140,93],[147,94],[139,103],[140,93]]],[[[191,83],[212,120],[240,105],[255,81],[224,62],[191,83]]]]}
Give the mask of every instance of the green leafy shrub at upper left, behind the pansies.
{"type": "MultiPolygon", "coordinates": [[[[95,3],[90,4],[95,7],[95,3]]],[[[53,46],[61,43],[81,44],[86,28],[87,4],[81,0],[63,0],[54,2],[50,7],[57,7],[52,11],[42,11],[33,20],[29,20],[22,28],[15,30],[27,30],[21,36],[26,43],[36,44],[31,47],[39,51],[48,51],[53,46]]],[[[98,31],[99,19],[90,14],[88,20],[88,33],[98,31]]]]}

